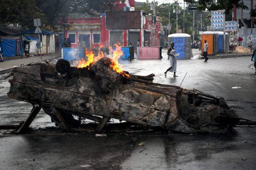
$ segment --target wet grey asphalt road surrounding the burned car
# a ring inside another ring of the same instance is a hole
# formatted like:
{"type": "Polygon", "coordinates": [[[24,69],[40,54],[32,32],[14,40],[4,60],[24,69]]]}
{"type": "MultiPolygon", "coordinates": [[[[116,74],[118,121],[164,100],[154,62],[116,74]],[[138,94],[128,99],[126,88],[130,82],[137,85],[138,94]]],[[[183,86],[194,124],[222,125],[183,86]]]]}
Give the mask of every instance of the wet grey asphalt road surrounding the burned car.
{"type": "MultiPolygon", "coordinates": [[[[166,51],[164,50],[163,53],[166,51]]],[[[193,51],[194,56],[198,51],[193,51]]],[[[154,73],[154,82],[222,96],[243,118],[256,120],[256,74],[250,56],[178,60],[177,78],[161,60],[122,60],[132,74],[154,73]],[[232,89],[232,87],[241,87],[232,89]]],[[[0,76],[0,124],[16,124],[30,112],[30,104],[8,99],[9,83],[0,76]]],[[[0,133],[0,170],[255,170],[256,127],[237,127],[236,134],[94,134],[65,133],[41,111],[25,135],[0,133]],[[39,129],[38,129],[39,128],[39,129]],[[242,143],[242,141],[245,141],[242,143]],[[144,146],[137,146],[143,142],[144,146]],[[246,158],[246,160],[241,160],[246,158]]]]}

